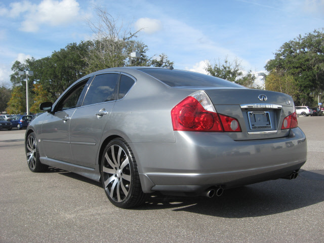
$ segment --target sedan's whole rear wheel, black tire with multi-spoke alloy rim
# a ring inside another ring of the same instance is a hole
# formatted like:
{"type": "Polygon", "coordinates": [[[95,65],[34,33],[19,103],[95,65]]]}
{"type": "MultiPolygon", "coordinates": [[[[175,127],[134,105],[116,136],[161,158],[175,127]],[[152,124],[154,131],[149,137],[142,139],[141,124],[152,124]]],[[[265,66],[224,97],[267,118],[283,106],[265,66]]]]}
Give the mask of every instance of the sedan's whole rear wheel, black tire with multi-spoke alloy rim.
{"type": "Polygon", "coordinates": [[[111,140],[101,160],[102,186],[118,208],[132,208],[145,202],[134,154],[124,139],[111,140]]]}

